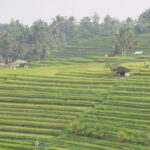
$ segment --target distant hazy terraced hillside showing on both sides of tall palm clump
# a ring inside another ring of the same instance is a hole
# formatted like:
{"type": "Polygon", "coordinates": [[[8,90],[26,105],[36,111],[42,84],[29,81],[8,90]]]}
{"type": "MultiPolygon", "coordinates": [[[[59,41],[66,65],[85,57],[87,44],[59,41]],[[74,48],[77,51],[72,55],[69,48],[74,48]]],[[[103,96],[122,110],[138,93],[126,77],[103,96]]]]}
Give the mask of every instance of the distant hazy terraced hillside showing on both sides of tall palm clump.
{"type": "MultiPolygon", "coordinates": [[[[139,44],[132,51],[144,51],[145,54],[150,54],[149,39],[150,34],[136,35],[139,44]]],[[[112,49],[112,37],[103,36],[69,42],[63,50],[52,52],[52,55],[58,58],[105,56],[105,54],[111,54],[112,49]]],[[[130,52],[128,52],[128,55],[130,55],[130,52]]]]}

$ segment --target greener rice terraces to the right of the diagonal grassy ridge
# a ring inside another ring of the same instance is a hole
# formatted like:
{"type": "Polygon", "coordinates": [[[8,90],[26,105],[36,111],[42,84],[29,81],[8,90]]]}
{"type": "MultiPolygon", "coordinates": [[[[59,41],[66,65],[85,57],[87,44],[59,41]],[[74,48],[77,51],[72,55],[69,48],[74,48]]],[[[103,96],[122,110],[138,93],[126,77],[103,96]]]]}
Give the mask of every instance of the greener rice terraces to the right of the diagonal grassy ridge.
{"type": "Polygon", "coordinates": [[[124,65],[132,69],[132,76],[118,79],[101,104],[78,118],[80,127],[86,125],[89,131],[94,132],[95,125],[100,125],[103,137],[64,133],[49,150],[55,147],[68,150],[150,149],[150,70],[142,69],[143,63],[124,65]]]}

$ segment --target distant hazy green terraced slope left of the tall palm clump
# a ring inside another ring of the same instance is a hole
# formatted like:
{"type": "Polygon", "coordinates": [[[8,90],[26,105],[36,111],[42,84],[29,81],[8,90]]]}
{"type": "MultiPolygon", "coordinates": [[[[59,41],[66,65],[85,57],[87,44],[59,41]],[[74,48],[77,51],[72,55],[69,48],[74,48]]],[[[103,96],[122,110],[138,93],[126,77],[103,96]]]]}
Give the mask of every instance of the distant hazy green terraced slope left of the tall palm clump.
{"type": "Polygon", "coordinates": [[[94,37],[87,40],[71,41],[63,50],[53,52],[55,57],[87,57],[91,55],[104,56],[112,49],[111,37],[94,37]],[[108,42],[109,41],[109,42],[108,42]]]}

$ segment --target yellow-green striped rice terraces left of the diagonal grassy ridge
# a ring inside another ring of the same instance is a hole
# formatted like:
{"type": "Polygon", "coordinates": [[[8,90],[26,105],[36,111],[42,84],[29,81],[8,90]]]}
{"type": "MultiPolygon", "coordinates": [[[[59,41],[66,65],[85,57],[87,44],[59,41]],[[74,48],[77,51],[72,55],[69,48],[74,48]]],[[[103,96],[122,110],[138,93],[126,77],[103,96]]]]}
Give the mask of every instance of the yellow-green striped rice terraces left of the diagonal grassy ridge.
{"type": "Polygon", "coordinates": [[[36,137],[43,149],[82,112],[100,103],[114,83],[99,79],[103,70],[91,73],[72,67],[1,71],[1,149],[34,149],[36,137]]]}

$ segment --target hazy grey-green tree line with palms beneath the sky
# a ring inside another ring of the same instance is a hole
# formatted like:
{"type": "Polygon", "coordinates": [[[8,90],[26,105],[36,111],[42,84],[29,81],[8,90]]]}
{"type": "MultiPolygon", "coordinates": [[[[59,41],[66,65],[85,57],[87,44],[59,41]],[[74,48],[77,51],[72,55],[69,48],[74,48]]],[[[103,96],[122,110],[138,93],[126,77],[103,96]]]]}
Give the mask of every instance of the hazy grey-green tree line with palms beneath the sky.
{"type": "Polygon", "coordinates": [[[57,15],[50,24],[37,20],[32,26],[24,25],[19,20],[11,20],[9,24],[0,24],[0,59],[45,60],[51,57],[52,50],[60,51],[68,41],[112,35],[118,38],[115,46],[121,47],[122,53],[125,53],[126,45],[128,48],[133,46],[130,42],[133,34],[126,34],[128,41],[125,42],[128,44],[120,45],[119,39],[124,37],[122,25],[127,25],[126,30],[130,28],[133,33],[150,32],[150,9],[143,12],[138,20],[128,17],[125,21],[120,21],[107,15],[101,21],[97,13],[91,17],[83,17],[79,22],[74,16],[57,15]],[[117,31],[122,34],[117,35],[117,31]]]}

